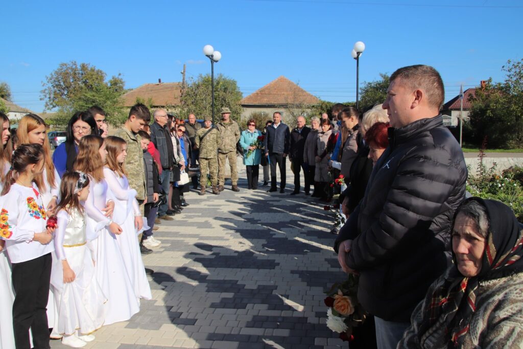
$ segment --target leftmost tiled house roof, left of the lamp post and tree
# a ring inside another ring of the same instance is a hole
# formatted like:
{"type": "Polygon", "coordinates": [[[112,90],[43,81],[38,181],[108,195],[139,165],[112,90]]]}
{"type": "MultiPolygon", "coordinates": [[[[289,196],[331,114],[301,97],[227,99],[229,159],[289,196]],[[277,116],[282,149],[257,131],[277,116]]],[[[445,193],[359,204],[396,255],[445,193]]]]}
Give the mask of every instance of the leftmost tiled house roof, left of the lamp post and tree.
{"type": "Polygon", "coordinates": [[[137,97],[147,101],[152,98],[155,107],[164,107],[166,105],[180,105],[181,83],[158,83],[144,84],[122,96],[123,105],[132,107],[136,104],[137,97]]]}

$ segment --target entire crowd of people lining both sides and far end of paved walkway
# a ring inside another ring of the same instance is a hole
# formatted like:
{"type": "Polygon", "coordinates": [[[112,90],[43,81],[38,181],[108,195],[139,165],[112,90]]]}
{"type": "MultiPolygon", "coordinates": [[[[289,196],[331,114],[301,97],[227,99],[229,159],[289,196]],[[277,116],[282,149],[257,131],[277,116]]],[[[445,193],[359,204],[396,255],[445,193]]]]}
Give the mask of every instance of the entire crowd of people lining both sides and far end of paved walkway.
{"type": "Polygon", "coordinates": [[[2,347],[49,348],[50,337],[82,347],[130,319],[151,299],[141,254],[161,245],[157,224],[189,205],[190,186],[220,195],[227,164],[240,191],[238,152],[247,190],[263,181],[278,192],[279,171],[285,193],[289,157],[290,195],[302,193],[303,173],[305,196],[339,206],[334,249],[343,271],[359,275],[369,313],[351,348],[521,347],[521,224],[500,202],[465,200],[467,166],[439,114],[439,73],[408,66],[390,81],[383,104],[336,104],[292,130],[280,112],[242,131],[226,107],[201,125],[164,109],[151,122],[137,104],[109,136],[104,110],[92,107],[73,115],[54,153],[39,116],[11,134],[0,114],[2,347]]]}

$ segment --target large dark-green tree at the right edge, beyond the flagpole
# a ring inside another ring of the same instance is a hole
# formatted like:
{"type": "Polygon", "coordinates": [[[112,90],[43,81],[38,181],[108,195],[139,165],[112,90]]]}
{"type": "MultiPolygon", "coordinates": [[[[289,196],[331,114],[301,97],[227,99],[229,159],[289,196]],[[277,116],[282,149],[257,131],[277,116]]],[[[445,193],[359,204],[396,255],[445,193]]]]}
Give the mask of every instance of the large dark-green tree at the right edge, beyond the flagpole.
{"type": "Polygon", "coordinates": [[[502,83],[492,78],[478,87],[470,98],[469,142],[481,144],[486,137],[489,148],[523,146],[523,59],[508,60],[502,67],[507,76],[502,83]]]}

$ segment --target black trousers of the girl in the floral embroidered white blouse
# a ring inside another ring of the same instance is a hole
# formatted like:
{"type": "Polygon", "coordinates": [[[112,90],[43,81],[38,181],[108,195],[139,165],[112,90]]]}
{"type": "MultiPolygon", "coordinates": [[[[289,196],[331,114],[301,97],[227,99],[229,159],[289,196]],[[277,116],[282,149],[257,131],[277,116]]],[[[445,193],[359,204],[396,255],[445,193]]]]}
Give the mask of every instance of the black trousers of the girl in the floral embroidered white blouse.
{"type": "Polygon", "coordinates": [[[29,328],[35,349],[50,348],[47,301],[51,264],[50,253],[27,262],[13,263],[12,280],[16,295],[13,303],[13,331],[16,349],[30,349],[29,328]]]}

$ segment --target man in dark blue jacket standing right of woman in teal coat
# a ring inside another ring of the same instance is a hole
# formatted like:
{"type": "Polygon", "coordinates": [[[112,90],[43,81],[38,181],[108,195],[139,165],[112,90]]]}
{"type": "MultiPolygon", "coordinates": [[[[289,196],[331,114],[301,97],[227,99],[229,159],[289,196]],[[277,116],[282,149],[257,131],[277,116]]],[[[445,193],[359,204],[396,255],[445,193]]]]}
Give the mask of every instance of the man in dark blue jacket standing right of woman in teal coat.
{"type": "Polygon", "coordinates": [[[270,189],[267,192],[276,192],[276,165],[280,168],[280,193],[285,193],[285,160],[289,154],[290,131],[285,123],[281,122],[281,112],[272,114],[272,125],[267,127],[265,134],[265,156],[270,161],[270,189]]]}

